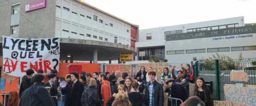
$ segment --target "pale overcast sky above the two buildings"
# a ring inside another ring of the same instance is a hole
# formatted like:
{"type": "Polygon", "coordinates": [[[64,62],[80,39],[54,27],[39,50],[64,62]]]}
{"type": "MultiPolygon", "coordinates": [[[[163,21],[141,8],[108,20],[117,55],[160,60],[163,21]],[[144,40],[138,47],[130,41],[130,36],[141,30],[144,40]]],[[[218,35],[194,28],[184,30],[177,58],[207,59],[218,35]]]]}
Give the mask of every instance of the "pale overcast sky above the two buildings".
{"type": "Polygon", "coordinates": [[[84,0],[139,29],[244,16],[256,23],[256,0],[84,0]]]}

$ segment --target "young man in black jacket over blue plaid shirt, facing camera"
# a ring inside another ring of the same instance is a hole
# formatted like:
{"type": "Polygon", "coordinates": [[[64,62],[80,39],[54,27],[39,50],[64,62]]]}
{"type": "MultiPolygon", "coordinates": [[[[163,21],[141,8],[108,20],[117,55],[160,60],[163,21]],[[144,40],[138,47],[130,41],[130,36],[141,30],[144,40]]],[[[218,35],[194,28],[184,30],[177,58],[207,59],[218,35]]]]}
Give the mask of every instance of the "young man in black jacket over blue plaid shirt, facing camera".
{"type": "Polygon", "coordinates": [[[162,84],[155,80],[156,72],[149,71],[149,83],[146,85],[145,95],[148,98],[149,106],[164,105],[164,91],[162,84]]]}

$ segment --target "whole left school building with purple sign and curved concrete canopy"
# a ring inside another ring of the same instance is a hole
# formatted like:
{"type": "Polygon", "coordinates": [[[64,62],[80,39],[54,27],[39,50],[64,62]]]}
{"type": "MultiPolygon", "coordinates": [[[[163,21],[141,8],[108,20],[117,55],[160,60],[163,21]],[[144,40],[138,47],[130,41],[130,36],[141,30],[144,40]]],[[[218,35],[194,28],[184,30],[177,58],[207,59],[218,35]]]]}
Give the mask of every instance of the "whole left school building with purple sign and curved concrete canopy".
{"type": "Polygon", "coordinates": [[[45,0],[46,7],[25,12],[25,6],[36,1],[40,0],[1,0],[0,35],[60,37],[60,60],[97,63],[118,60],[119,52],[137,55],[138,25],[80,0],[45,0]]]}

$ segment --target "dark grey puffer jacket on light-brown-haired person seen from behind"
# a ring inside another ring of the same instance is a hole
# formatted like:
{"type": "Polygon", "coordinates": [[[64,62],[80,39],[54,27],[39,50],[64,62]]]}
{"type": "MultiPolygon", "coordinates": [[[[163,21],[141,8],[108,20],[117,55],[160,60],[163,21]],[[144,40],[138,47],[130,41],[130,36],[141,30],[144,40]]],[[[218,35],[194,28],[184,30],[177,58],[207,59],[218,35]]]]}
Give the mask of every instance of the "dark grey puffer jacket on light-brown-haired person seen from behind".
{"type": "Polygon", "coordinates": [[[81,97],[82,106],[101,106],[102,101],[96,88],[86,88],[81,97]]]}

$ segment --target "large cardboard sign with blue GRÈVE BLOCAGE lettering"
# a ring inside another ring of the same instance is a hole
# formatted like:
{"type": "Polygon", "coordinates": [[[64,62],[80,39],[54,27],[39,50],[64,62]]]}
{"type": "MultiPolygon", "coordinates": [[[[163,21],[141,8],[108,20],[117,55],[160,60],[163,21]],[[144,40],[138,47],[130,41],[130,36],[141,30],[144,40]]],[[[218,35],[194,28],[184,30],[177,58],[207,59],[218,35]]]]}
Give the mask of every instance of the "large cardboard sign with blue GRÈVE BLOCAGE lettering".
{"type": "Polygon", "coordinates": [[[256,85],[224,85],[225,100],[233,106],[256,106],[256,85]]]}

